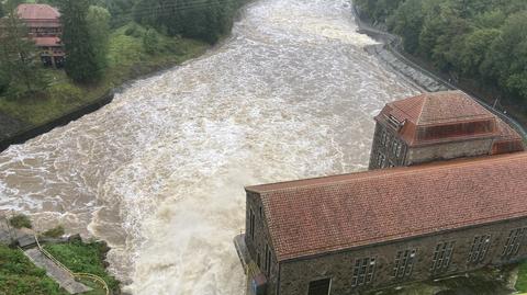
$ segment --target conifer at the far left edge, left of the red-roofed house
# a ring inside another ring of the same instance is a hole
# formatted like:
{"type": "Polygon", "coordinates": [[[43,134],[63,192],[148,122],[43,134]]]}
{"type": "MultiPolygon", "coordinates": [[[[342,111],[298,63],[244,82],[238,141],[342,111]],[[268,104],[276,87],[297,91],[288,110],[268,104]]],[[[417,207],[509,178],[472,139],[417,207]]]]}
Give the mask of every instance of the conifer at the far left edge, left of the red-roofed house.
{"type": "Polygon", "coordinates": [[[0,33],[0,80],[3,81],[0,81],[0,88],[7,90],[12,98],[43,91],[48,86],[48,80],[35,44],[27,38],[27,27],[19,19],[14,5],[10,5],[2,23],[4,30],[0,33]]]}

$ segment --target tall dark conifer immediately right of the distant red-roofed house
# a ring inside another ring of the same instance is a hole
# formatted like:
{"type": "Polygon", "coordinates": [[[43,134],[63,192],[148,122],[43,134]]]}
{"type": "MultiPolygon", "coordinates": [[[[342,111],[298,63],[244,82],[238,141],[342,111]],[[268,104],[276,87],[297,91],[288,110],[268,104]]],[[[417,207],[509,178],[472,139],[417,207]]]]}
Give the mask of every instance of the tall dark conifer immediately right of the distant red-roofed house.
{"type": "Polygon", "coordinates": [[[90,0],[60,0],[66,73],[79,83],[98,81],[104,70],[88,26],[89,8],[90,0]]]}

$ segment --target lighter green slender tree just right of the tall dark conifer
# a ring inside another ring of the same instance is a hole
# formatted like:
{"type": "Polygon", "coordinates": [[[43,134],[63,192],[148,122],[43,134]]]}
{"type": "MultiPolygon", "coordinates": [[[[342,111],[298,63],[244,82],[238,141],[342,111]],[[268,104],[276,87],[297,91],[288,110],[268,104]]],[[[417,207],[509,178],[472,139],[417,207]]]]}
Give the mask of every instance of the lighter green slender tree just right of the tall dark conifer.
{"type": "Polygon", "coordinates": [[[87,21],[90,38],[92,41],[94,61],[97,68],[108,67],[108,50],[110,41],[110,12],[101,7],[91,5],[88,10],[87,21]]]}

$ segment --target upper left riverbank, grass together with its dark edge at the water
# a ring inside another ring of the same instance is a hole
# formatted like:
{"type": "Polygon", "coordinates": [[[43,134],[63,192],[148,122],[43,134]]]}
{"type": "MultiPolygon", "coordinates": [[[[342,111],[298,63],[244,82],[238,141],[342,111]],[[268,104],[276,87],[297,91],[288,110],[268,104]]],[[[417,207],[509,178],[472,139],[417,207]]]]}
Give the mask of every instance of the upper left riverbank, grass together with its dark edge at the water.
{"type": "Polygon", "coordinates": [[[211,48],[203,42],[159,34],[157,50],[150,54],[143,42],[145,32],[131,23],[112,33],[109,67],[98,84],[77,86],[63,70],[47,69],[54,82],[46,95],[0,97],[0,151],[97,111],[112,101],[113,89],[131,80],[180,65],[211,48]]]}

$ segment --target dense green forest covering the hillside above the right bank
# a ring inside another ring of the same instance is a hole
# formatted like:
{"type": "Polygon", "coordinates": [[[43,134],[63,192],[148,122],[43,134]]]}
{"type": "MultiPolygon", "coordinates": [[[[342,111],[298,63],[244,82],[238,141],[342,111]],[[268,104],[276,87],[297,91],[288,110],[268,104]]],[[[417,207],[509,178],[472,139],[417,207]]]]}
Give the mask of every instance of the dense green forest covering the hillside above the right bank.
{"type": "Polygon", "coordinates": [[[402,36],[407,53],[452,79],[471,79],[527,105],[527,1],[356,0],[356,4],[375,24],[402,36]]]}

